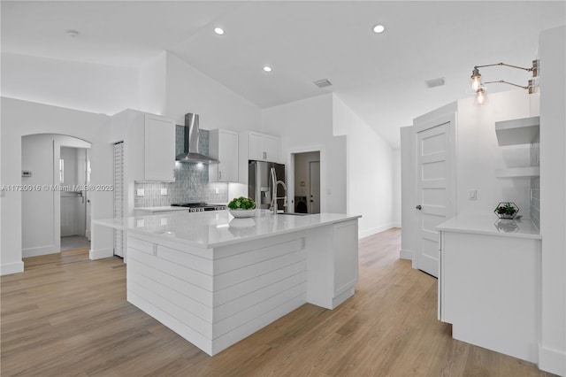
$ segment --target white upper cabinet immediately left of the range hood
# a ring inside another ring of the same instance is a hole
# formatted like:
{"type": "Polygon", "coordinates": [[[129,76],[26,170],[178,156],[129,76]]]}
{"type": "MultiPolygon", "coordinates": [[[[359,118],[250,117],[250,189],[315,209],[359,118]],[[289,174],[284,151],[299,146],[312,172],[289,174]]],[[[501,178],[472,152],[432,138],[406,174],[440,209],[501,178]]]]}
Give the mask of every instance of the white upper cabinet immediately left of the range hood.
{"type": "Polygon", "coordinates": [[[174,181],[175,123],[145,116],[144,178],[148,181],[174,181]]]}

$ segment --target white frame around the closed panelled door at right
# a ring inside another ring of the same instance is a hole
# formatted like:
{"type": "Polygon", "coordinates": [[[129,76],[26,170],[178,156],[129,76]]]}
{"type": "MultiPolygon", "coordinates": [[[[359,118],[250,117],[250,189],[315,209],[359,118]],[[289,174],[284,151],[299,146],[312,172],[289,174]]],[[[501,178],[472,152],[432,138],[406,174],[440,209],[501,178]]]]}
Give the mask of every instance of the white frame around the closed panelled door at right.
{"type": "MultiPolygon", "coordinates": [[[[419,170],[418,170],[418,156],[417,156],[417,142],[418,142],[418,138],[417,135],[419,132],[422,132],[424,130],[427,130],[429,128],[432,127],[436,127],[439,126],[440,124],[444,124],[444,123],[448,123],[449,122],[449,139],[448,139],[448,157],[449,157],[449,164],[448,164],[448,174],[449,177],[447,177],[447,219],[454,217],[457,213],[456,210],[456,205],[457,205],[457,201],[456,201],[456,164],[457,164],[457,155],[456,155],[456,143],[458,141],[457,138],[457,125],[456,125],[456,120],[458,119],[457,117],[457,112],[450,112],[450,113],[444,113],[444,114],[439,114],[438,116],[435,116],[433,119],[427,119],[425,121],[423,121],[422,123],[417,121],[417,119],[415,119],[415,123],[414,123],[414,129],[413,129],[413,150],[415,151],[414,155],[413,155],[413,172],[414,172],[414,180],[415,180],[415,191],[414,191],[414,204],[420,204],[417,203],[418,202],[418,197],[419,197],[419,193],[418,193],[418,174],[419,174],[419,170]]],[[[420,260],[419,257],[421,255],[421,243],[420,243],[420,224],[422,223],[421,217],[422,217],[422,212],[420,212],[419,210],[417,210],[417,208],[413,209],[413,211],[415,212],[415,221],[417,226],[415,227],[415,229],[417,229],[416,234],[414,235],[414,242],[413,245],[415,246],[415,252],[412,258],[412,267],[415,269],[420,269],[420,260]]],[[[439,244],[439,250],[440,250],[440,244],[439,244]]],[[[440,260],[440,256],[439,256],[439,260],[440,260]]],[[[439,270],[440,271],[440,270],[439,270]]]]}

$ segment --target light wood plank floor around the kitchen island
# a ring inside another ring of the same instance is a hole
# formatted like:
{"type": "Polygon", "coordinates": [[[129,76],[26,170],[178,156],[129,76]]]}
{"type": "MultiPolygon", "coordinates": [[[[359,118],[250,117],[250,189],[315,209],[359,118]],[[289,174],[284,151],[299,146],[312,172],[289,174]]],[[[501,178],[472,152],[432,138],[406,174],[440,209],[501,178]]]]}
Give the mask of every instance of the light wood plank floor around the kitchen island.
{"type": "Polygon", "coordinates": [[[1,369],[8,376],[545,376],[535,365],[451,338],[436,279],[399,259],[400,230],[360,241],[356,295],[305,304],[210,358],[126,302],[119,258],[88,249],[26,258],[2,277],[1,369]]]}

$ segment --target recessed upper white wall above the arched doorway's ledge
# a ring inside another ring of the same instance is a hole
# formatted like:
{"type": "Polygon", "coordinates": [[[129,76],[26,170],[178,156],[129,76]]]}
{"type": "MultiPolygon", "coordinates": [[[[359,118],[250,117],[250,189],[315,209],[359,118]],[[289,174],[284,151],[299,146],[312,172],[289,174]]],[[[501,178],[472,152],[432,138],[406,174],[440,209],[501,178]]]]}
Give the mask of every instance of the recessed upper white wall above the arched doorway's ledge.
{"type": "Polygon", "coordinates": [[[2,53],[2,96],[86,112],[138,108],[135,68],[2,53]]]}

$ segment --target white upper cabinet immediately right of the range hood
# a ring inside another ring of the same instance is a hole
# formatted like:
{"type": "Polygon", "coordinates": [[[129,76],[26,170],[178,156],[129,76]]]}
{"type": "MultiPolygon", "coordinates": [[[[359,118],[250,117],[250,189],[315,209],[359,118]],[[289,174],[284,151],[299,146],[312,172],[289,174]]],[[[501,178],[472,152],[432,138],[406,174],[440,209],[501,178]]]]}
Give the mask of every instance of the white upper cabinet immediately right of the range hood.
{"type": "Polygon", "coordinates": [[[209,165],[210,182],[238,181],[238,133],[226,129],[210,130],[209,156],[219,161],[209,165]]]}

